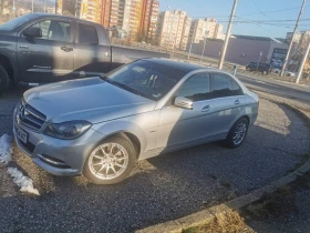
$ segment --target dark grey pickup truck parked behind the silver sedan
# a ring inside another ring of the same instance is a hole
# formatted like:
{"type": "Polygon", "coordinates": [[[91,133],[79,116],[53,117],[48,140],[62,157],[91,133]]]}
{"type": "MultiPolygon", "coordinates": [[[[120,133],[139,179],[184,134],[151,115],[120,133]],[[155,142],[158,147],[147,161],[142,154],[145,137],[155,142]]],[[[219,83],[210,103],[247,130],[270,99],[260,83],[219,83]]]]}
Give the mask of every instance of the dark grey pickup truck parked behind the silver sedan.
{"type": "Polygon", "coordinates": [[[111,45],[97,23],[30,13],[0,24],[0,94],[9,83],[39,85],[102,75],[141,58],[166,53],[111,45]]]}

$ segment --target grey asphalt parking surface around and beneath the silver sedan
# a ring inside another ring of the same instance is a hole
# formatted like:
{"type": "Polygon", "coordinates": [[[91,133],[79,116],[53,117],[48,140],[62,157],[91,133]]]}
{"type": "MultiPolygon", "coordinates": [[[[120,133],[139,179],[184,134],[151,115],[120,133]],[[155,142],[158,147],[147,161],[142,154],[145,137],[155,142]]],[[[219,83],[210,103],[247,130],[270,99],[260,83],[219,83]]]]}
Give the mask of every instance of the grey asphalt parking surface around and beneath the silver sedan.
{"type": "MultiPolygon", "coordinates": [[[[0,99],[0,134],[11,133],[11,114],[19,95],[0,99]]],[[[149,159],[141,162],[130,179],[113,186],[50,175],[14,146],[14,160],[42,195],[1,197],[0,229],[131,232],[281,178],[304,158],[309,141],[309,129],[294,112],[262,99],[258,120],[241,148],[229,150],[210,143],[149,159]]]]}

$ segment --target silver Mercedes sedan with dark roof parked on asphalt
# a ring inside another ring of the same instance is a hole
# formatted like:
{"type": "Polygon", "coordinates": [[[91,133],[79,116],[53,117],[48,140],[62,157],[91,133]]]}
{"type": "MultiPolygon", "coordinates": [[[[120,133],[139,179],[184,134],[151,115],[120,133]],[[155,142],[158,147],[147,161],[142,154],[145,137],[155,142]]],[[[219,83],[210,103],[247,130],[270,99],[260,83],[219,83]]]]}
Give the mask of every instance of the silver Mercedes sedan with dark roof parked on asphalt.
{"type": "Polygon", "coordinates": [[[45,171],[113,184],[137,160],[217,140],[237,148],[257,114],[257,94],[229,73],[143,59],[102,78],[30,89],[13,131],[45,171]]]}

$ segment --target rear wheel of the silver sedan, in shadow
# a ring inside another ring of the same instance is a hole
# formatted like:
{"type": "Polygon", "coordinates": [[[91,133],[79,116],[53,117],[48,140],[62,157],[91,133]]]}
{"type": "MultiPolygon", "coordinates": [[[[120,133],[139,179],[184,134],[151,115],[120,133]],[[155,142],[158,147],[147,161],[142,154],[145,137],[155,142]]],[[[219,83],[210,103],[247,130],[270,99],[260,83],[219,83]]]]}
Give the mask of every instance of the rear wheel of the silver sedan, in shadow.
{"type": "Polygon", "coordinates": [[[248,133],[249,121],[246,118],[239,119],[230,129],[225,144],[228,148],[238,148],[242,144],[248,133]]]}

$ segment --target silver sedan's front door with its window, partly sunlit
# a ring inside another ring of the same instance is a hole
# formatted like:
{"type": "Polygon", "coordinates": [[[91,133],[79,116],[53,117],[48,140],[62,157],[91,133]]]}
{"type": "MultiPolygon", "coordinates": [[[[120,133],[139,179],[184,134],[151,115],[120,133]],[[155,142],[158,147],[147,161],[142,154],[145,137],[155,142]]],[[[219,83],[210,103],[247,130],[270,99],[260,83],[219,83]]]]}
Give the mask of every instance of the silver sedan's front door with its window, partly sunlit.
{"type": "Polygon", "coordinates": [[[210,77],[197,73],[189,78],[179,89],[177,97],[193,101],[193,110],[178,107],[164,107],[161,112],[157,149],[176,149],[208,141],[215,136],[216,120],[210,95],[210,77]]]}

